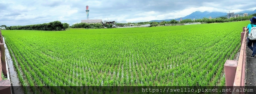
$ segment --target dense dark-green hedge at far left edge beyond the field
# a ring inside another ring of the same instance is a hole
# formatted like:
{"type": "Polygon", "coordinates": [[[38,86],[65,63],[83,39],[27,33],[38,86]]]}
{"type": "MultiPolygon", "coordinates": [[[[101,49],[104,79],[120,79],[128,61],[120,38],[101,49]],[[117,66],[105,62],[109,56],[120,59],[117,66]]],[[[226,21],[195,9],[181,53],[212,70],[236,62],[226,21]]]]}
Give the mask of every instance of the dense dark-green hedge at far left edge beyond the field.
{"type": "Polygon", "coordinates": [[[25,26],[10,26],[9,30],[43,30],[43,31],[61,31],[69,28],[68,23],[61,23],[60,21],[54,21],[43,24],[33,24],[25,26]]]}

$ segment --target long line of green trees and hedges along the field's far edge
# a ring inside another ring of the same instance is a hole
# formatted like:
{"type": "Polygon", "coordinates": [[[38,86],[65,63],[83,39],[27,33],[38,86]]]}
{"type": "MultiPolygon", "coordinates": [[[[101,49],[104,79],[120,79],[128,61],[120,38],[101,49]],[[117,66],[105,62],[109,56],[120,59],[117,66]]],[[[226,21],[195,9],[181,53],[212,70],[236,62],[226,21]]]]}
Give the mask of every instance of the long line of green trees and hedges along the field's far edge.
{"type": "MultiPolygon", "coordinates": [[[[246,17],[237,17],[237,18],[226,18],[226,17],[220,17],[220,18],[203,18],[203,19],[184,19],[182,21],[177,20],[171,20],[171,21],[161,21],[161,22],[137,22],[137,23],[115,23],[116,26],[129,26],[130,24],[133,24],[134,26],[141,26],[145,24],[150,24],[150,26],[166,26],[166,25],[175,25],[175,24],[184,24],[184,23],[194,23],[194,22],[200,22],[200,23],[220,23],[220,22],[232,22],[232,21],[244,21],[249,20],[253,16],[256,16],[255,14],[252,14],[250,16],[246,17]]],[[[85,28],[85,29],[100,29],[100,28],[113,28],[112,24],[102,24],[102,23],[76,23],[71,26],[69,26],[68,23],[61,23],[60,21],[54,21],[44,24],[34,24],[34,25],[25,25],[25,26],[5,26],[7,30],[43,30],[43,31],[61,31],[66,30],[68,28],[85,28]]]]}

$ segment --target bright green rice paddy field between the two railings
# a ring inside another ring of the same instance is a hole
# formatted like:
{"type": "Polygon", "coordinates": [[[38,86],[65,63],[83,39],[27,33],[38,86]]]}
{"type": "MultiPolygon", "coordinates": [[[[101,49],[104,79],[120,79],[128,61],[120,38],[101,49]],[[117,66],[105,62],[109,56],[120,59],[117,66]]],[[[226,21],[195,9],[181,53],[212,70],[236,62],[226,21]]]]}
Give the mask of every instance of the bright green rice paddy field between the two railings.
{"type": "Polygon", "coordinates": [[[2,30],[2,35],[23,86],[224,86],[224,63],[236,58],[247,24],[2,30]]]}

